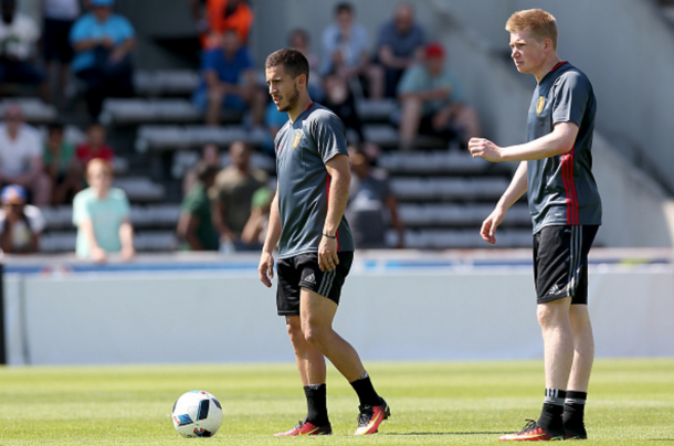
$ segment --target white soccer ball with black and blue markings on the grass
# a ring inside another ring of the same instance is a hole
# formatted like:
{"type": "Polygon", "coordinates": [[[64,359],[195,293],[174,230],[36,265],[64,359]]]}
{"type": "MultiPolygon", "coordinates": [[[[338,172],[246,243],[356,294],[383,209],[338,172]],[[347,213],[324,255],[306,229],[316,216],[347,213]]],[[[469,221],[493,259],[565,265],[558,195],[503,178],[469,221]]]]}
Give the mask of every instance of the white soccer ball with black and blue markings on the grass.
{"type": "Polygon", "coordinates": [[[212,437],[222,424],[222,406],[210,393],[191,391],[176,401],[171,418],[183,437],[212,437]]]}

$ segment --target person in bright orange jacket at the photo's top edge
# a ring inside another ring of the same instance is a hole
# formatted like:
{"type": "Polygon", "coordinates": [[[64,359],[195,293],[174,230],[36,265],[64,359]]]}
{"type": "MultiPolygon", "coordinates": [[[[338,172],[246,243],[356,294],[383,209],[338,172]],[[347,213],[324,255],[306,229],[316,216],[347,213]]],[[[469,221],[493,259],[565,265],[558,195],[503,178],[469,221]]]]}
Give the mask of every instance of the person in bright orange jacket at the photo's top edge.
{"type": "Polygon", "coordinates": [[[222,36],[230,30],[248,44],[255,15],[244,0],[191,0],[191,6],[204,50],[220,47],[222,36]]]}

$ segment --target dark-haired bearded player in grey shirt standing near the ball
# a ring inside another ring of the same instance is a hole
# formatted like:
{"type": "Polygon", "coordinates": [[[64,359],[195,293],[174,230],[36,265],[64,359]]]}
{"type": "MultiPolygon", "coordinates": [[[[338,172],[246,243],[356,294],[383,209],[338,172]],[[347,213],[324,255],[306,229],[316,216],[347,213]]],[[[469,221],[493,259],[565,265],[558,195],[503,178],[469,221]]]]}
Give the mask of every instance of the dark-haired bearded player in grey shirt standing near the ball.
{"type": "Polygon", "coordinates": [[[299,51],[272,53],[265,72],[270,94],[288,121],[274,141],[278,185],[257,270],[260,280],[271,287],[273,251],[278,246],[276,307],[285,317],[307,400],[306,418],[275,435],[333,433],[326,357],[358,395],[355,435],[373,434],[390,415],[389,406],[375,391],[354,347],[333,329],[354,259],[354,240],[344,217],[350,184],[345,127],[334,113],[312,102],[309,65],[299,51]]]}

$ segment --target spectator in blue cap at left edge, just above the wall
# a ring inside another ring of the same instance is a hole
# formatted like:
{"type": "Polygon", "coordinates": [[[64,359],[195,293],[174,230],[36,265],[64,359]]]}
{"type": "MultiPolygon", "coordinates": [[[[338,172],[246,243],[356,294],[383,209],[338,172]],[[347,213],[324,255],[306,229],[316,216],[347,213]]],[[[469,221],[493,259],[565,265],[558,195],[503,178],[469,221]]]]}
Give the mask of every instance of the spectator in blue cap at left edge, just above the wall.
{"type": "Polygon", "coordinates": [[[25,189],[19,184],[6,185],[0,195],[0,248],[6,254],[36,253],[40,235],[46,222],[40,209],[27,204],[25,189]]]}

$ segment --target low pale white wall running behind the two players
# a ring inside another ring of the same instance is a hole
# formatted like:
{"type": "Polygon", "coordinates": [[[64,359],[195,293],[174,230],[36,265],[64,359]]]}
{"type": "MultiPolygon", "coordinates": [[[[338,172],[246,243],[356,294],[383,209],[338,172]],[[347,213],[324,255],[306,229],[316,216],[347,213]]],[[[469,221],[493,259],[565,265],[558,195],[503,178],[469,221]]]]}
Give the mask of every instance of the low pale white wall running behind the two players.
{"type": "MultiPolygon", "coordinates": [[[[593,265],[597,354],[674,355],[672,296],[672,264],[593,265]]],[[[252,273],[7,274],[4,299],[13,365],[293,359],[252,273]]],[[[530,265],[357,267],[335,325],[366,361],[541,358],[534,302],[530,265]]]]}

